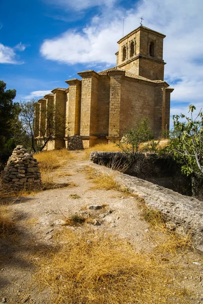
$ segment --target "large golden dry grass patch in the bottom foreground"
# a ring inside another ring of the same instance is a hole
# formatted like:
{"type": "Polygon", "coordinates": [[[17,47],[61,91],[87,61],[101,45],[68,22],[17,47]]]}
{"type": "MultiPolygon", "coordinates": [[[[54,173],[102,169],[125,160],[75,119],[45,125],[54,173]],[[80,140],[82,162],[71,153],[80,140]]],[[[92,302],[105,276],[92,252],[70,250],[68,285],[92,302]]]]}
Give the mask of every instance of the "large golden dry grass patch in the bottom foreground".
{"type": "Polygon", "coordinates": [[[54,304],[188,303],[167,262],[152,254],[91,231],[66,229],[56,239],[63,245],[35,262],[35,281],[51,291],[54,304]]]}

